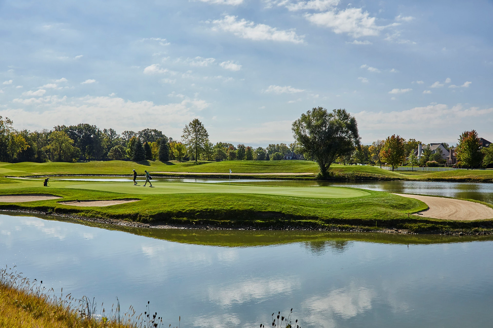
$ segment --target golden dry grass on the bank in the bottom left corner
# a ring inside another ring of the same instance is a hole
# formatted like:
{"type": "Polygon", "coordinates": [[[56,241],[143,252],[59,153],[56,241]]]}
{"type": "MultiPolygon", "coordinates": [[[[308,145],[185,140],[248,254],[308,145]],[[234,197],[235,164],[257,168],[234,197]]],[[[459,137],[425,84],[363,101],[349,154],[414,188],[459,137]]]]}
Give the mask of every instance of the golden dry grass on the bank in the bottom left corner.
{"type": "Polygon", "coordinates": [[[14,270],[0,270],[0,327],[164,328],[157,313],[148,313],[149,302],[140,315],[133,307],[121,315],[118,299],[111,311],[103,304],[98,311],[94,299],[64,297],[63,290],[56,296],[52,289],[42,287],[42,281],[30,281],[14,270]]]}

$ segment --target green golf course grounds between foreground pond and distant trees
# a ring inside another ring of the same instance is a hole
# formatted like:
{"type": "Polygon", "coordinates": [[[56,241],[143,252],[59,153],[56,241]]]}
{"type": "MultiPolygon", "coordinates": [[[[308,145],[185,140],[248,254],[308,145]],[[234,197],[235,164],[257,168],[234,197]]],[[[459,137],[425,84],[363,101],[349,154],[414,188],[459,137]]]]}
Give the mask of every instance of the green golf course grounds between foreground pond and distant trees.
{"type": "MultiPolygon", "coordinates": [[[[426,217],[426,213],[421,212],[428,209],[429,204],[434,207],[441,205],[428,201],[428,198],[425,203],[398,194],[340,186],[248,185],[235,180],[218,183],[154,180],[150,187],[149,183],[134,185],[131,181],[59,179],[64,175],[129,176],[133,169],[140,176],[147,170],[155,177],[163,175],[159,172],[178,172],[223,174],[224,178],[229,176],[230,169],[232,175],[249,173],[275,177],[304,174],[308,179],[315,179],[317,173],[317,166],[311,161],[1,163],[0,209],[75,215],[93,220],[136,221],[151,226],[331,230],[396,228],[413,232],[481,230],[491,225],[493,218],[491,205],[477,201],[466,202],[471,204],[471,209],[462,215],[469,217],[468,213],[481,212],[482,215],[474,220],[455,218],[453,213],[436,209],[430,209],[430,213],[435,214],[426,217]],[[55,177],[49,180],[49,186],[43,187],[46,176],[55,177]],[[412,215],[415,213],[422,215],[412,215]]],[[[344,165],[334,165],[332,170],[339,171],[338,174],[344,171],[348,175],[381,175],[386,179],[450,176],[458,172],[406,176],[377,167],[344,165]]],[[[479,172],[483,176],[491,174],[489,171],[459,171],[463,172],[479,172]]],[[[296,176],[288,176],[288,179],[296,179],[296,176]]]]}

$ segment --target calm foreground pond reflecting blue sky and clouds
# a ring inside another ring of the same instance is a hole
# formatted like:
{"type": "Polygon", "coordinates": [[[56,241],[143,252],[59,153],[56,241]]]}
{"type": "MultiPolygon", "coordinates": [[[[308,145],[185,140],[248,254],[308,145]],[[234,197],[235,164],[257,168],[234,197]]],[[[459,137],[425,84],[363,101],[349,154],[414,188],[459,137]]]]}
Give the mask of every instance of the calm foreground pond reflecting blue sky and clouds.
{"type": "Polygon", "coordinates": [[[150,301],[182,327],[258,327],[290,308],[302,327],[493,320],[491,237],[106,228],[0,214],[0,262],[105,307],[150,301]]]}

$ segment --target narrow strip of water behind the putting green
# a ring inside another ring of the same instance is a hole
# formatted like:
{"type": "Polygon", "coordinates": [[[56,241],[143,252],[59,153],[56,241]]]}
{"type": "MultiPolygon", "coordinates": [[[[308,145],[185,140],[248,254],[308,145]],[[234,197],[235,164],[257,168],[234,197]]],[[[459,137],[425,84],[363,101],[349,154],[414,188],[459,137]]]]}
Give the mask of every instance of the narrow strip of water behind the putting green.
{"type": "MultiPolygon", "coordinates": [[[[131,177],[81,177],[65,176],[54,177],[52,179],[61,180],[80,180],[80,181],[132,181],[131,177]]],[[[140,182],[145,179],[140,178],[140,182]]],[[[152,179],[152,182],[175,181],[175,182],[200,182],[200,183],[227,183],[228,179],[195,179],[195,178],[160,178],[152,179]]],[[[457,197],[464,199],[474,199],[493,204],[493,183],[473,183],[473,182],[432,182],[432,181],[348,181],[330,182],[317,180],[252,180],[252,179],[232,179],[232,183],[253,184],[253,185],[279,185],[279,186],[346,186],[377,191],[437,195],[447,197],[457,197]]]]}

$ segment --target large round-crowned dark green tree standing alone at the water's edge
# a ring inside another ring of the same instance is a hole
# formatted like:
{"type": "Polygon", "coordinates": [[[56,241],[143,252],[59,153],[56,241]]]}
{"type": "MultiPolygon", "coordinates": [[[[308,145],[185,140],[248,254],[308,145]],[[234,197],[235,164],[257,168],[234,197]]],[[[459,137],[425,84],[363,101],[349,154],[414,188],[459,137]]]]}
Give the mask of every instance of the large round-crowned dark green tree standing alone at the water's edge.
{"type": "Polygon", "coordinates": [[[295,120],[291,129],[302,151],[317,162],[323,178],[337,157],[359,145],[356,119],[345,109],[329,113],[322,107],[313,108],[295,120]]]}

